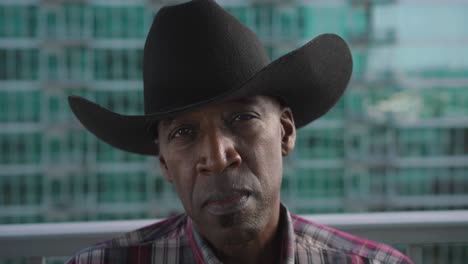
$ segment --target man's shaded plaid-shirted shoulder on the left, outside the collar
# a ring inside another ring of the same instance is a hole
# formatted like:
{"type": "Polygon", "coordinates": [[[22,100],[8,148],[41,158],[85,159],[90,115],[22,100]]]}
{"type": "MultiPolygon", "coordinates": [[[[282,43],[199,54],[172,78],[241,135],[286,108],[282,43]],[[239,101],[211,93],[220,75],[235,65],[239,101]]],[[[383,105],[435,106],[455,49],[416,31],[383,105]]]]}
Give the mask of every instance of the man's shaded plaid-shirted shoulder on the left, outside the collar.
{"type": "Polygon", "coordinates": [[[189,246],[186,222],[185,214],[167,218],[85,248],[66,263],[133,263],[141,256],[150,259],[154,259],[155,254],[176,256],[189,246]]]}

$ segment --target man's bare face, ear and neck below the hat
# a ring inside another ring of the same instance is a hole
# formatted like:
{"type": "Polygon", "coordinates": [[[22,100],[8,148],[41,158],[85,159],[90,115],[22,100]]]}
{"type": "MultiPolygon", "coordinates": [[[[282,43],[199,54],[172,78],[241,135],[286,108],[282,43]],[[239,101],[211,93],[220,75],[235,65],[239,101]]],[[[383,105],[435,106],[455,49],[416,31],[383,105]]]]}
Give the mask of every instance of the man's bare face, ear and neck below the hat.
{"type": "Polygon", "coordinates": [[[267,96],[213,103],[158,126],[159,161],[194,226],[224,263],[275,263],[289,108],[267,96]]]}

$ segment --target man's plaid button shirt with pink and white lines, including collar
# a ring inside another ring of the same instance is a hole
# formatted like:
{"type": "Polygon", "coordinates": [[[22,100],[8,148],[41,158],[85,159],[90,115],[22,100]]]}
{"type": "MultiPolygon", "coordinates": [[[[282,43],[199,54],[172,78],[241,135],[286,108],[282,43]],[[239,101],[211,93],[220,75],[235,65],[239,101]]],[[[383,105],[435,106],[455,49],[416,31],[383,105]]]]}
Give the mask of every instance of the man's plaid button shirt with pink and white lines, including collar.
{"type": "MultiPolygon", "coordinates": [[[[290,214],[281,207],[280,263],[411,264],[395,249],[290,214]]],[[[68,264],[222,263],[182,214],[96,244],[68,264]]]]}

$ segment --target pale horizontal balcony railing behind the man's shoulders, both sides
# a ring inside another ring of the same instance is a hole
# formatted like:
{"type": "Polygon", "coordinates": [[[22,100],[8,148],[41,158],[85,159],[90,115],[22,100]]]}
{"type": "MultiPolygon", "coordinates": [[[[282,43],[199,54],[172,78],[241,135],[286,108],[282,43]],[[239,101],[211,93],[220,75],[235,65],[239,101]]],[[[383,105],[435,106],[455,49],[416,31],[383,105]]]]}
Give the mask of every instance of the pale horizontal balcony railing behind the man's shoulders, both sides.
{"type": "MultiPolygon", "coordinates": [[[[406,248],[422,263],[425,245],[468,244],[468,210],[305,215],[371,240],[406,248]]],[[[47,257],[70,256],[79,249],[157,220],[0,225],[0,260],[26,257],[45,263],[47,257]]]]}

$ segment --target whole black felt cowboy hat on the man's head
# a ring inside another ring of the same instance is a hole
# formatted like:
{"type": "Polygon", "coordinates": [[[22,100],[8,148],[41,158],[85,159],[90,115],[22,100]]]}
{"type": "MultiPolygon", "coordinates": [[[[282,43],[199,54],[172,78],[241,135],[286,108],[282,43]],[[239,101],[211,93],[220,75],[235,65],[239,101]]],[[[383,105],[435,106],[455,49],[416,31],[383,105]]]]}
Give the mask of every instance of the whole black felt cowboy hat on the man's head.
{"type": "Polygon", "coordinates": [[[163,7],[143,57],[145,115],[128,116],[70,96],[71,109],[101,140],[158,155],[151,124],[207,103],[253,95],[280,98],[300,128],[325,114],[352,72],[348,46],[323,34],[269,63],[255,34],[213,0],[163,7]]]}

